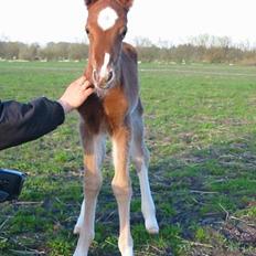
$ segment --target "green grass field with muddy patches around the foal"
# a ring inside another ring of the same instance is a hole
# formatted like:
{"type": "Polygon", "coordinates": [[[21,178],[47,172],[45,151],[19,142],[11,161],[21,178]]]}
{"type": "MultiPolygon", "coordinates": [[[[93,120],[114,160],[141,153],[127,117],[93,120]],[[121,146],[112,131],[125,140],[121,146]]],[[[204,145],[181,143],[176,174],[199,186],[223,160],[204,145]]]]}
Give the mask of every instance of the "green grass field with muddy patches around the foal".
{"type": "MultiPolygon", "coordinates": [[[[0,62],[0,98],[56,98],[83,63],[0,62]]],[[[136,256],[256,255],[256,67],[140,65],[150,181],[160,234],[149,236],[131,167],[136,256]]],[[[56,131],[0,152],[28,173],[18,202],[0,205],[0,255],[72,255],[83,199],[77,114],[56,131]]],[[[119,255],[110,145],[90,254],[119,255]]]]}

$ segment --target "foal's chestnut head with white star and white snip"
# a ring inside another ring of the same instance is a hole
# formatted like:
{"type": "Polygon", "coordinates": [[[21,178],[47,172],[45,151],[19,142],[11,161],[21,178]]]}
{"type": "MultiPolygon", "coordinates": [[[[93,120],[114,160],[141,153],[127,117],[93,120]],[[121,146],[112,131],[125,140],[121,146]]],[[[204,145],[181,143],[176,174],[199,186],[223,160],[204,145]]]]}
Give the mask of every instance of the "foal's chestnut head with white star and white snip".
{"type": "Polygon", "coordinates": [[[85,0],[89,64],[96,90],[111,87],[118,73],[121,43],[127,32],[127,13],[132,0],[85,0]]]}

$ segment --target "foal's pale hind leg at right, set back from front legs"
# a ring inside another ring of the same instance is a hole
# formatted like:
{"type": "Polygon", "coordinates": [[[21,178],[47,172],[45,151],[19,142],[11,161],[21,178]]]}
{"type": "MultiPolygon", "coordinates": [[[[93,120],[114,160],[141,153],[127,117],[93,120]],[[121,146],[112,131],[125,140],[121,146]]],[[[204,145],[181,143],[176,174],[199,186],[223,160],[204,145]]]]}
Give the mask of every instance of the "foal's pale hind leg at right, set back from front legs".
{"type": "Polygon", "coordinates": [[[139,177],[141,211],[145,217],[146,230],[150,234],[157,234],[159,226],[148,178],[149,151],[143,142],[143,121],[139,113],[135,113],[132,116],[131,158],[139,177]]]}

